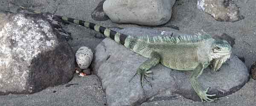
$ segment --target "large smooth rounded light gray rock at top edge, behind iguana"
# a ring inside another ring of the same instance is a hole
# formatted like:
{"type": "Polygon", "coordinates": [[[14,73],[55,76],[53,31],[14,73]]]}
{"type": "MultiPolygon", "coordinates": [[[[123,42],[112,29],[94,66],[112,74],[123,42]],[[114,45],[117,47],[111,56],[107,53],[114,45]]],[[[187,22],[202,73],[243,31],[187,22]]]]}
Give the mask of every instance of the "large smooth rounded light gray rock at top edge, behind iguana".
{"type": "Polygon", "coordinates": [[[106,0],[103,10],[115,23],[159,26],[172,16],[175,0],[106,0]]]}

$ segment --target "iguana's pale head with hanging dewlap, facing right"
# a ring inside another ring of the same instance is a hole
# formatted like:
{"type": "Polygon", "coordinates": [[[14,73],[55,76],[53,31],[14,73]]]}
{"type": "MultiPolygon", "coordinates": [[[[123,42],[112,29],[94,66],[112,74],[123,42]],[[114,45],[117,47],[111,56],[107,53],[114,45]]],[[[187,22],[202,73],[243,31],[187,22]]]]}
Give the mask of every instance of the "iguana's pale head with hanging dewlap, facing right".
{"type": "Polygon", "coordinates": [[[232,47],[226,40],[215,40],[212,45],[212,69],[217,71],[230,58],[232,47]]]}

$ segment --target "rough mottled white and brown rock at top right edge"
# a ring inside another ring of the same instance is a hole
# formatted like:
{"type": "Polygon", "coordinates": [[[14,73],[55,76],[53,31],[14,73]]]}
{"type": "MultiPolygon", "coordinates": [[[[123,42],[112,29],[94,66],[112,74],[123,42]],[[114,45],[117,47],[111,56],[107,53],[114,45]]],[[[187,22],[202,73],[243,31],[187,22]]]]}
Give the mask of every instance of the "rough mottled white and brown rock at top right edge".
{"type": "Polygon", "coordinates": [[[218,21],[235,22],[244,19],[232,0],[198,0],[198,9],[211,14],[218,21]]]}

